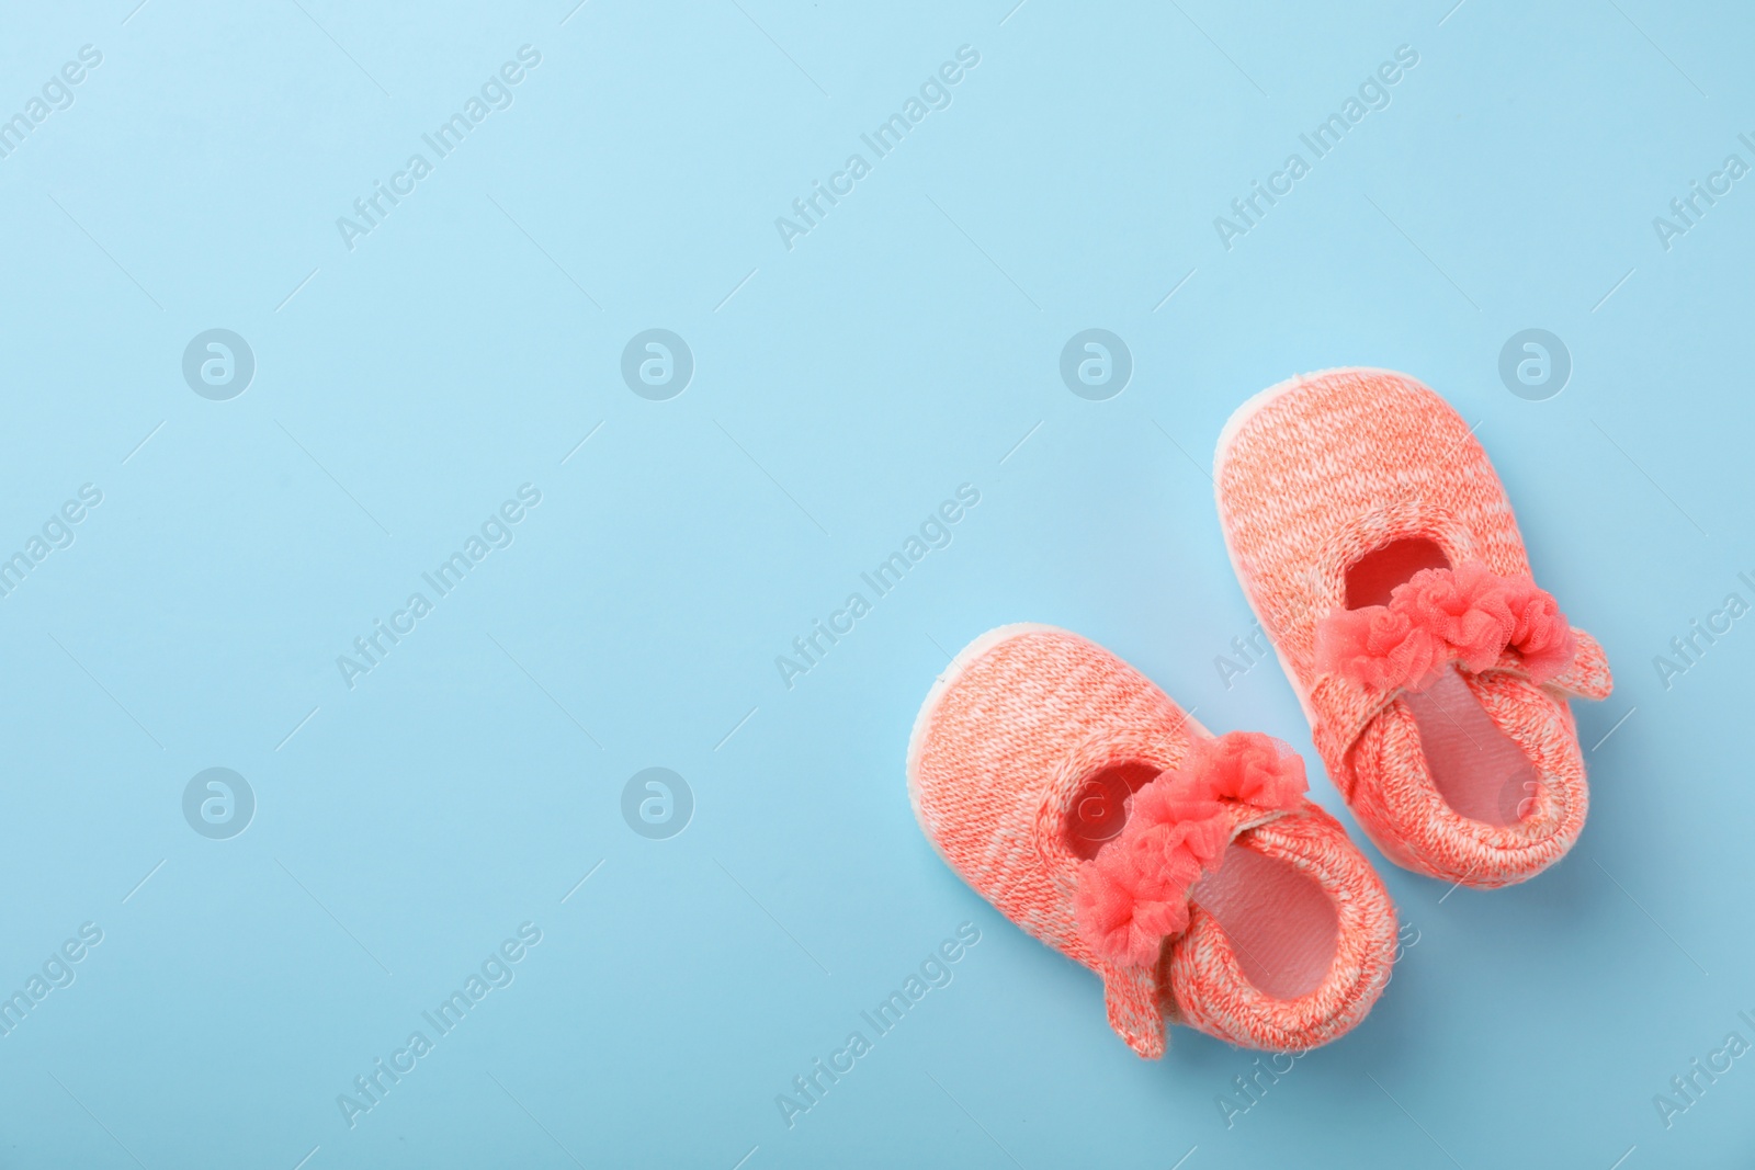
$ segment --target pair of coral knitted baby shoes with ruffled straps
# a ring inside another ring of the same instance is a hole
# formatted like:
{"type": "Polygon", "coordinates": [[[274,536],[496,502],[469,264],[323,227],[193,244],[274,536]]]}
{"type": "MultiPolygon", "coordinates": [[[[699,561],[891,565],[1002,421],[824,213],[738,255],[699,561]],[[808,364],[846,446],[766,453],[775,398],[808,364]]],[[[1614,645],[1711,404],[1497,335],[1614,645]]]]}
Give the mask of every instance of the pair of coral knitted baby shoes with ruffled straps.
{"type": "MultiPolygon", "coordinates": [[[[1606,696],[1609,667],[1530,579],[1462,417],[1402,374],[1295,377],[1230,417],[1213,481],[1232,568],[1385,856],[1481,888],[1564,856],[1588,803],[1567,703],[1606,696]]],[[[1304,761],[1214,737],[1074,633],[969,644],[914,723],[907,789],[963,881],[1102,977],[1141,1056],[1167,1021],[1311,1049],[1388,984],[1395,909],[1304,761]]]]}

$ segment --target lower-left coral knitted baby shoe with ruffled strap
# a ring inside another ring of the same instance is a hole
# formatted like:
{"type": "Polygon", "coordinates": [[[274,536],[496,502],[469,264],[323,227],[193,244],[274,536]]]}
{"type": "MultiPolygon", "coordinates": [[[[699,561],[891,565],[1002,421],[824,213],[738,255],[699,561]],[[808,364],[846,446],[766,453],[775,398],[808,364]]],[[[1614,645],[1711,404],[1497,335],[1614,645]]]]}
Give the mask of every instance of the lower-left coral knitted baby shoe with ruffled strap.
{"type": "Polygon", "coordinates": [[[1164,1054],[1165,1021],[1309,1049],[1390,979],[1395,910],[1346,830],[1265,735],[1211,737],[1114,654],[1002,626],[944,670],[907,791],[976,893],[1104,981],[1109,1026],[1164,1054]]]}

